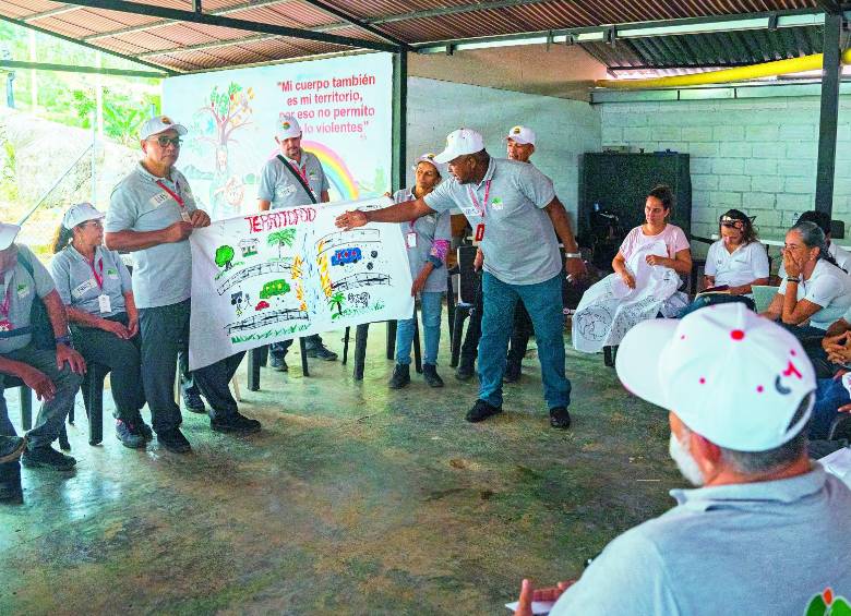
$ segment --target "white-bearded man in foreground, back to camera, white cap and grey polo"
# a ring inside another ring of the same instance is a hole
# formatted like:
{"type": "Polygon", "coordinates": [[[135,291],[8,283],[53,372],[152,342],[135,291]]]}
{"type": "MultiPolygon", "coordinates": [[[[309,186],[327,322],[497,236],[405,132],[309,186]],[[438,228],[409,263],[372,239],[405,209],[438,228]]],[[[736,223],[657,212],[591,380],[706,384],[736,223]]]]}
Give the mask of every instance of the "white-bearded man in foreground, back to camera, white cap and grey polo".
{"type": "Polygon", "coordinates": [[[671,491],[676,507],[612,541],[577,582],[524,580],[517,614],[556,597],[551,616],[823,614],[808,607],[828,589],[849,596],[851,491],[807,458],[816,383],[794,336],[719,304],[639,323],[616,369],[670,411],[671,457],[698,487],[671,491]]]}

